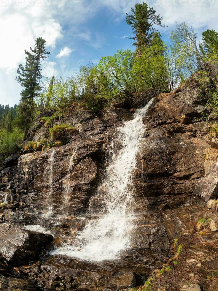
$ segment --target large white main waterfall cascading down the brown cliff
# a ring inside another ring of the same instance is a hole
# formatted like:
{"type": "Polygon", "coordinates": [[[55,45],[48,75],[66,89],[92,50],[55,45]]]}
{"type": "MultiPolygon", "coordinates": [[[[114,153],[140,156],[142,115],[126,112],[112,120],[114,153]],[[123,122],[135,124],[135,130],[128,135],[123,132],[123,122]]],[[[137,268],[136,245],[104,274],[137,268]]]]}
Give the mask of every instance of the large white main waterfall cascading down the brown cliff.
{"type": "MultiPolygon", "coordinates": [[[[111,162],[97,195],[102,203],[100,217],[86,224],[77,243],[65,245],[51,254],[64,254],[97,262],[115,259],[130,246],[133,219],[131,204],[134,196],[132,175],[136,168],[139,143],[144,134],[142,117],[152,101],[153,99],[143,109],[137,110],[133,120],[117,129],[117,141],[121,143],[121,149],[118,153],[114,150],[116,141],[110,146],[111,162]]],[[[92,213],[95,212],[94,200],[95,198],[90,201],[92,213]]]]}

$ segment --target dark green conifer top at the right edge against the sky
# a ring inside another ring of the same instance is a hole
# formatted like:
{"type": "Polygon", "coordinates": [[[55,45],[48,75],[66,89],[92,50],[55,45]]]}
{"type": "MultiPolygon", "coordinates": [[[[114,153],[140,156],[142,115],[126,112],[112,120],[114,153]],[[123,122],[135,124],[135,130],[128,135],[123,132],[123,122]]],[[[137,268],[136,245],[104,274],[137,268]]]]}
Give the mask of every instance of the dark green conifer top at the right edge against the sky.
{"type": "Polygon", "coordinates": [[[217,58],[218,54],[218,32],[208,29],[202,33],[201,48],[208,58],[217,58]]]}

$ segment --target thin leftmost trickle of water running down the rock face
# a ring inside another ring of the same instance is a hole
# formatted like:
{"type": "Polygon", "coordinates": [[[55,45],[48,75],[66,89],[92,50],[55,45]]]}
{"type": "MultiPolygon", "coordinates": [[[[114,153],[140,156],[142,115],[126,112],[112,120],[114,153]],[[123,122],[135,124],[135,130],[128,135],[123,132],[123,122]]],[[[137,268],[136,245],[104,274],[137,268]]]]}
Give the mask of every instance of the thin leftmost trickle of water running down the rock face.
{"type": "Polygon", "coordinates": [[[47,184],[47,200],[46,206],[48,213],[53,211],[53,201],[52,201],[52,192],[53,192],[53,163],[54,163],[55,150],[52,151],[52,154],[48,160],[48,165],[44,170],[44,183],[47,184]]]}

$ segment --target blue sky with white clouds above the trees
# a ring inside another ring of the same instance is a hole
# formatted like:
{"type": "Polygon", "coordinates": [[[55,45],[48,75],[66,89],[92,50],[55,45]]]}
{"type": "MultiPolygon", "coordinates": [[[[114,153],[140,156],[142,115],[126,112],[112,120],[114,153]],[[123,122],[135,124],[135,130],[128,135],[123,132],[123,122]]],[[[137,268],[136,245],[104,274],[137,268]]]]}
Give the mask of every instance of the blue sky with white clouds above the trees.
{"type": "Polygon", "coordinates": [[[164,41],[176,22],[185,21],[199,36],[206,29],[218,31],[217,0],[0,0],[0,103],[19,103],[17,67],[37,37],[50,51],[42,64],[44,77],[77,75],[79,67],[96,64],[101,56],[133,50],[125,18],[142,2],[163,17],[164,41]]]}

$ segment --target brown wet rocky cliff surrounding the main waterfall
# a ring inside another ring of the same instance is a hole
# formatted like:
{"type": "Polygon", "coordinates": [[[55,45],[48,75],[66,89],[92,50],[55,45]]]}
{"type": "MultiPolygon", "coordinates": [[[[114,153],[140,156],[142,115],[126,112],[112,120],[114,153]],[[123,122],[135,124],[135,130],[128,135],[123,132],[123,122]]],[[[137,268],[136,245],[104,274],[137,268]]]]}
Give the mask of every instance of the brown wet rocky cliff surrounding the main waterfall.
{"type": "MultiPolygon", "coordinates": [[[[218,143],[202,121],[205,90],[215,82],[208,71],[210,78],[202,81],[196,74],[171,93],[135,96],[136,107],[154,99],[142,119],[132,177],[131,245],[114,260],[89,262],[49,252],[73,244],[87,222],[97,219],[109,145],[135,108],[116,104],[99,114],[69,108],[55,124],[75,130],[63,131],[59,146],[50,149],[40,143],[49,139],[42,117],[51,113],[36,119],[28,139],[39,150],[26,148],[17,162],[18,156],[10,157],[1,172],[0,288],[124,290],[150,276],[150,289],[139,290],[218,290],[218,143]]],[[[119,152],[119,141],[115,146],[119,152]]]]}

